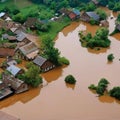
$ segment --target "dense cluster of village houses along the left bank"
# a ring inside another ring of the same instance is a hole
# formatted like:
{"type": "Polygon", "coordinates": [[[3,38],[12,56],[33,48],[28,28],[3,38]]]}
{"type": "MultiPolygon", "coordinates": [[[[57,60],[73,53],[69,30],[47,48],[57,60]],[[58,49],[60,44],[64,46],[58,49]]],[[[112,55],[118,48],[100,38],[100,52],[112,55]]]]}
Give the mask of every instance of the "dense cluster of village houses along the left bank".
{"type": "Polygon", "coordinates": [[[18,94],[28,90],[28,85],[17,78],[17,75],[23,73],[23,69],[17,66],[16,59],[32,61],[40,67],[42,72],[55,68],[51,61],[40,56],[40,48],[27,36],[26,28],[34,28],[33,23],[35,20],[28,18],[24,25],[22,25],[12,21],[7,13],[0,13],[0,31],[2,31],[0,35],[0,41],[2,42],[0,44],[0,57],[6,58],[5,64],[2,63],[1,67],[10,73],[2,73],[0,100],[13,93],[18,94]],[[7,43],[4,42],[6,40],[8,41],[7,43]]]}

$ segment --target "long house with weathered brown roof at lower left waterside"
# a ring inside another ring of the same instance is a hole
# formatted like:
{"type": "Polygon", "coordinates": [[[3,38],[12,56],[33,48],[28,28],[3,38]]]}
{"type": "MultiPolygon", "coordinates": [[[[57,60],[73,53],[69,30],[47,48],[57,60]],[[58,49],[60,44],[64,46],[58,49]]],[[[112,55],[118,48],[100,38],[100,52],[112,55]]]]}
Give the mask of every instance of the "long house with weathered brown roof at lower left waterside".
{"type": "Polygon", "coordinates": [[[24,81],[15,78],[13,75],[3,73],[2,74],[3,83],[10,88],[12,88],[16,94],[22,93],[28,90],[28,85],[24,81]]]}

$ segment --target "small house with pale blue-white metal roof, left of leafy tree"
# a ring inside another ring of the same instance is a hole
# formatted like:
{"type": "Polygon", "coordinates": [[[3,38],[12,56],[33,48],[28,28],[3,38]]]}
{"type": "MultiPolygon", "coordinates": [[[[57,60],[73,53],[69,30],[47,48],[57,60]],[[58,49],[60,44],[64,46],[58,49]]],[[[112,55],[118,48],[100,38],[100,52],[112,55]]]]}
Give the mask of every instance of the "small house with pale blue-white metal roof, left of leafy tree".
{"type": "Polygon", "coordinates": [[[23,70],[15,65],[10,65],[6,70],[9,71],[13,76],[23,73],[23,70]]]}

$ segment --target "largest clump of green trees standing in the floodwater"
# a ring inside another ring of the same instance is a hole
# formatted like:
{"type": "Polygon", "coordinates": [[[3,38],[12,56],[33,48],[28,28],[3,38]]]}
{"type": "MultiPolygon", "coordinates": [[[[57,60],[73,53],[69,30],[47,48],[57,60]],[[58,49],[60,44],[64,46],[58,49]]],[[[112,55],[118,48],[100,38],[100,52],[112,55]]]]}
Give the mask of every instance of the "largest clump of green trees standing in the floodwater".
{"type": "Polygon", "coordinates": [[[109,30],[107,28],[99,28],[95,36],[92,37],[91,33],[84,35],[83,31],[79,32],[80,42],[82,46],[95,48],[95,47],[103,47],[107,48],[110,46],[110,40],[108,39],[109,30]]]}

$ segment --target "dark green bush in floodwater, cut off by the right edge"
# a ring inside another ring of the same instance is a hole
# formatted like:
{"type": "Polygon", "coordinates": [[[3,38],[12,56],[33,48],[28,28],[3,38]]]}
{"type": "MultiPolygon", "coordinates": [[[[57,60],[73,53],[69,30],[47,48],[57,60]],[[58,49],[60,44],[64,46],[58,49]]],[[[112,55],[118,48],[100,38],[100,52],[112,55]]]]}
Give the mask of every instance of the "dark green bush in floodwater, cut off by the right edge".
{"type": "Polygon", "coordinates": [[[114,98],[120,100],[120,87],[113,87],[113,89],[111,89],[109,91],[109,95],[111,97],[114,97],[114,98]]]}

